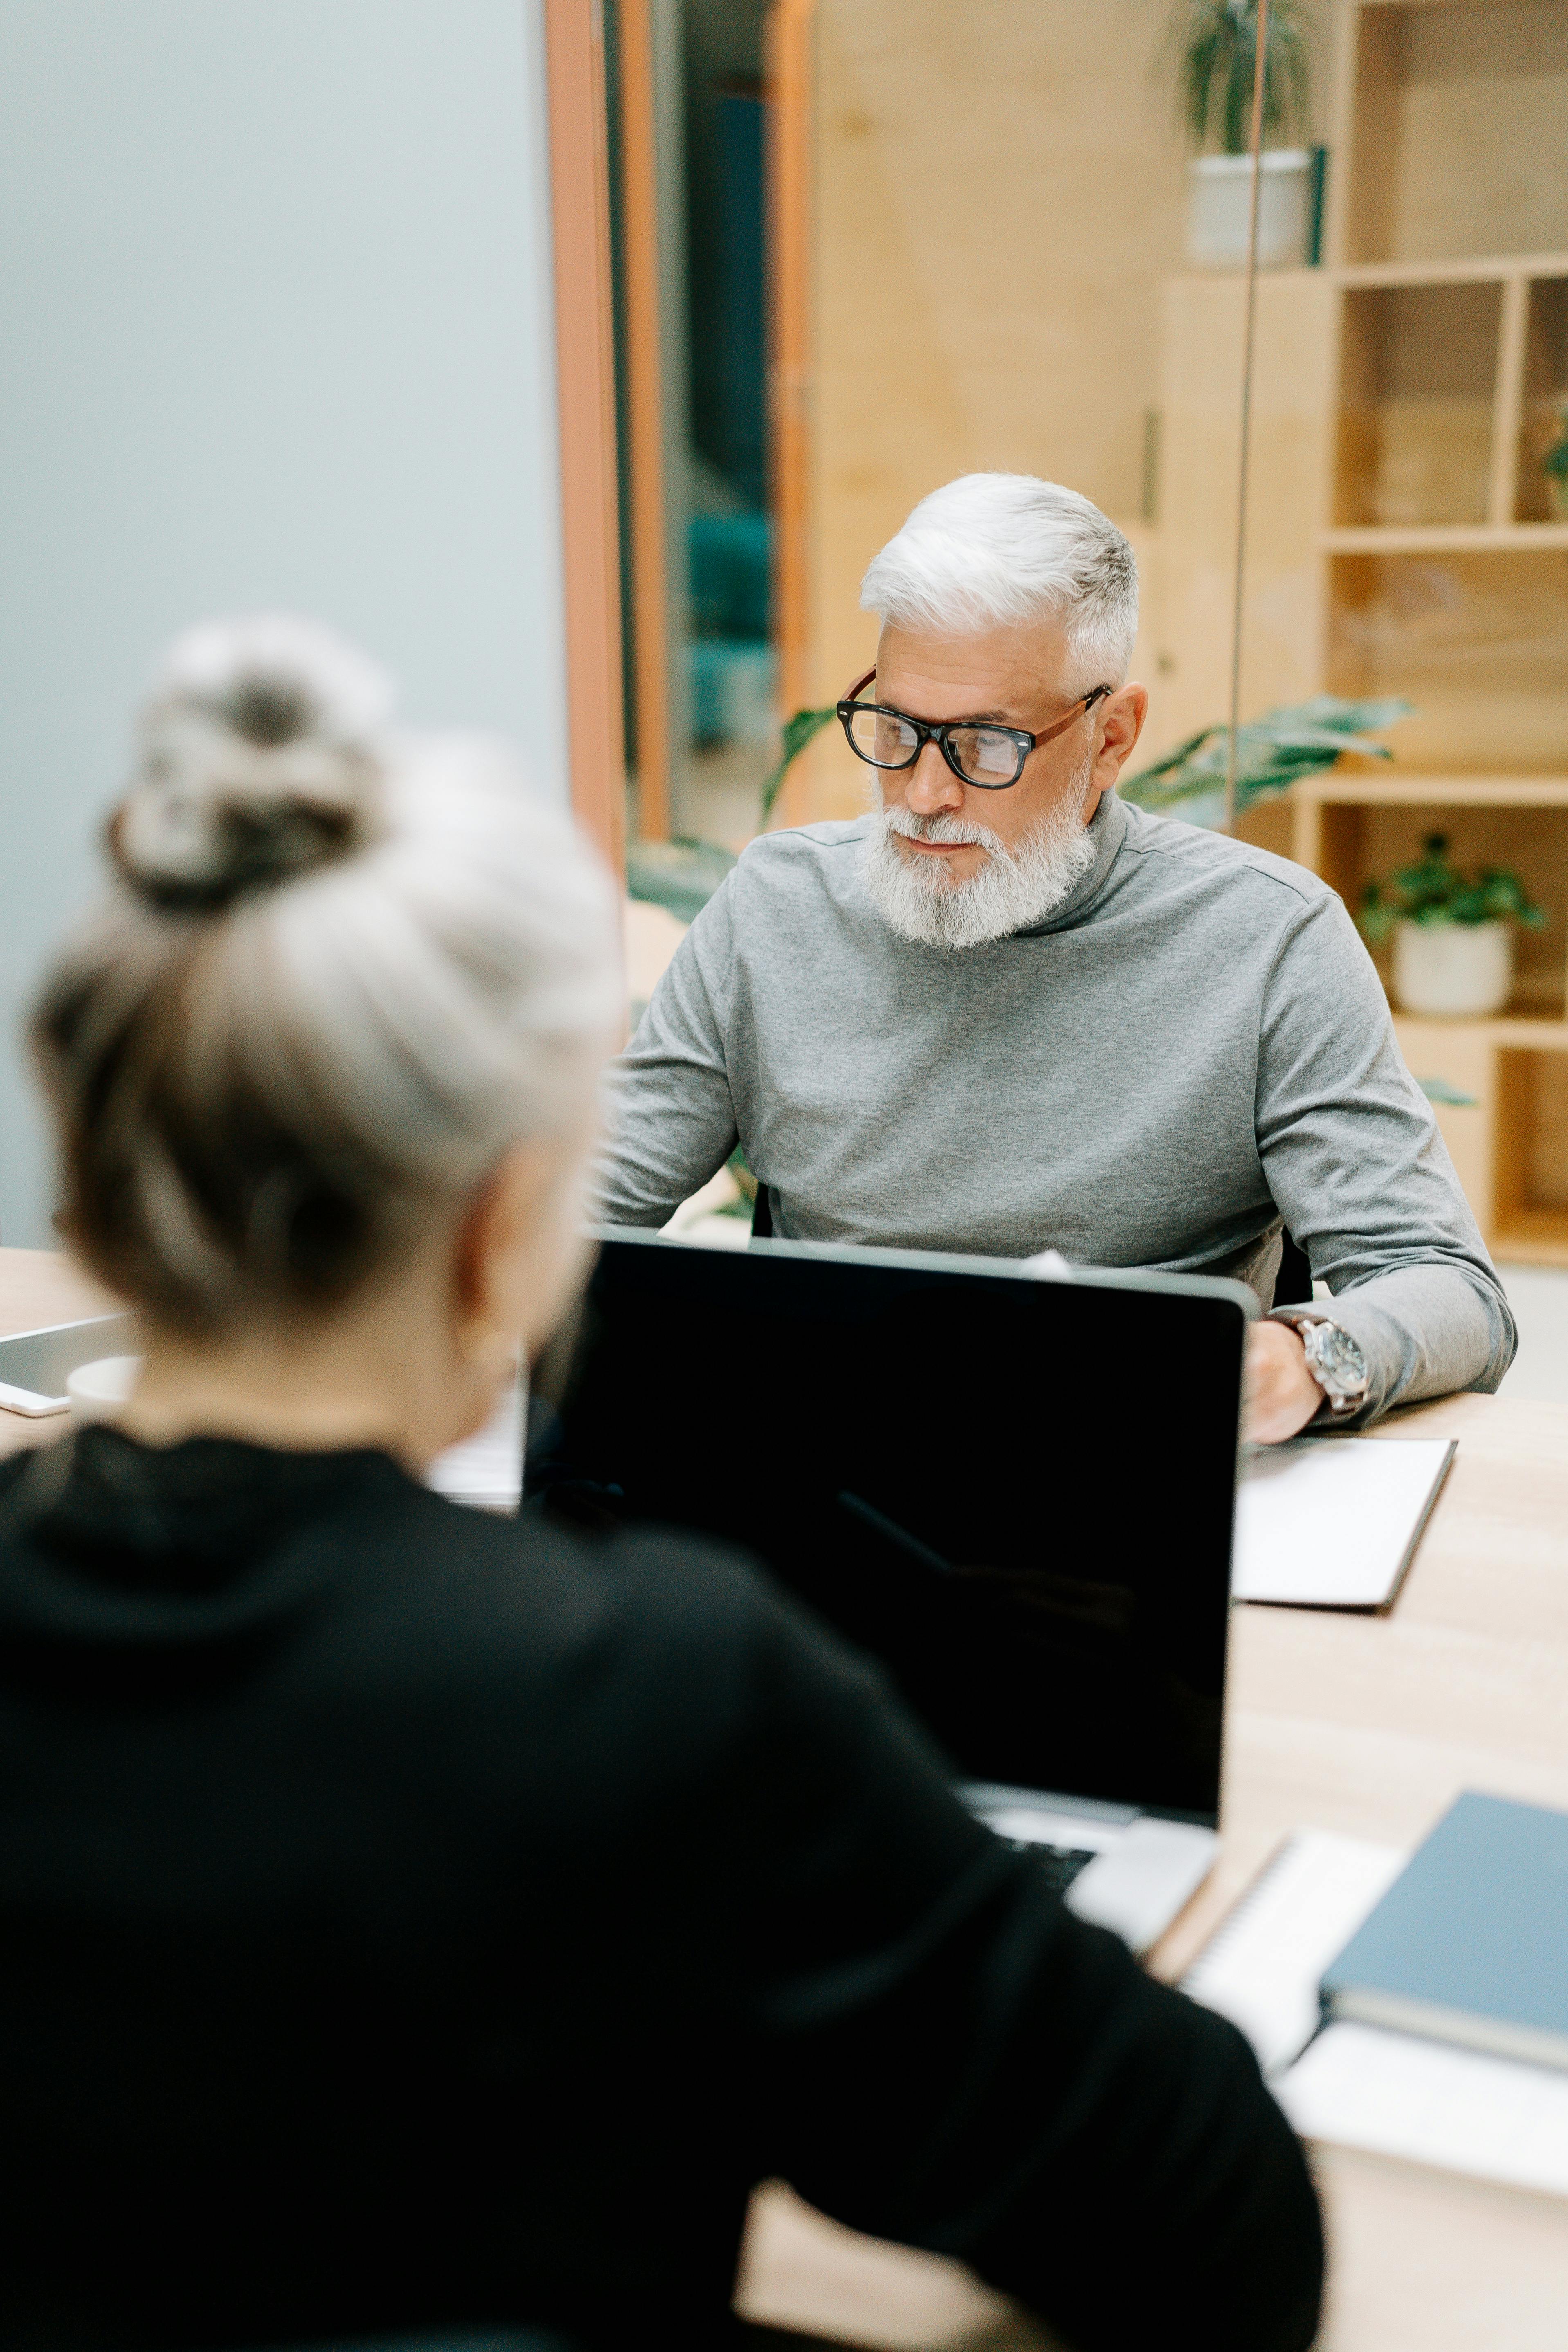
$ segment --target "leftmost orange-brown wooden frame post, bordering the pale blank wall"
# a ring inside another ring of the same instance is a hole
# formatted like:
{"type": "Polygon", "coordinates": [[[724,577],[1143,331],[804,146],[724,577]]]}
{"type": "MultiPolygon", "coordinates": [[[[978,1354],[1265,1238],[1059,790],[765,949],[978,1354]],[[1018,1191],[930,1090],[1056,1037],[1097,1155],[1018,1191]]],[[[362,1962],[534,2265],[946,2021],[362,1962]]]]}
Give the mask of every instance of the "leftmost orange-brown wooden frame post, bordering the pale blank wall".
{"type": "Polygon", "coordinates": [[[621,499],[602,0],[545,0],[571,807],[625,873],[621,499]]]}

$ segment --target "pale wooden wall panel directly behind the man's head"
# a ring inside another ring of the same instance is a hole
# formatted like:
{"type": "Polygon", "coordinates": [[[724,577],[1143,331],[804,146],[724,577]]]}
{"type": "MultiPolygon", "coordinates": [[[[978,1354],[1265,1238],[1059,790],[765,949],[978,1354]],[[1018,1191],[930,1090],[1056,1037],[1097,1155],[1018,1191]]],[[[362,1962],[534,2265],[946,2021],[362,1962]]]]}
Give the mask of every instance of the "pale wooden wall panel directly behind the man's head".
{"type": "MultiPolygon", "coordinates": [[[[860,574],[971,468],[1143,501],[1182,148],[1147,0],[820,0],[811,701],[875,652],[860,574]]],[[[825,743],[820,814],[860,776],[825,743]]]]}

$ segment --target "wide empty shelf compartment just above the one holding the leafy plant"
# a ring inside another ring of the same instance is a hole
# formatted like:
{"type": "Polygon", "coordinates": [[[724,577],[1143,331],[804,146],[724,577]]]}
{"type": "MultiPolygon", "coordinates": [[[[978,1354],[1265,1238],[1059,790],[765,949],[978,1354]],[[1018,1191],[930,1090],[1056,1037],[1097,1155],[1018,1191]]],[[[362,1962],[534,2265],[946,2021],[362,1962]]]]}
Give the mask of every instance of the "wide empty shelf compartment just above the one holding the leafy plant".
{"type": "Polygon", "coordinates": [[[1328,689],[1403,694],[1396,769],[1568,769],[1568,550],[1333,555],[1328,689]]]}

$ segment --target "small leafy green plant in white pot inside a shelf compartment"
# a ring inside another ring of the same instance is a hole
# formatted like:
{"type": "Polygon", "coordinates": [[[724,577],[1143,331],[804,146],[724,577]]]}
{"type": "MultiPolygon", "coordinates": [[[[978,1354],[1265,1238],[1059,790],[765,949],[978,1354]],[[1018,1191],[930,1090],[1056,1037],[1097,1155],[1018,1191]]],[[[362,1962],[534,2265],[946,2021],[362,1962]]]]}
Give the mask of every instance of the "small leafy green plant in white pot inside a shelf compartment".
{"type": "Polygon", "coordinates": [[[1467,882],[1448,863],[1448,835],[1422,837],[1422,861],[1368,882],[1361,931],[1394,938],[1394,997],[1406,1014],[1500,1014],[1514,993],[1514,924],[1547,920],[1519,875],[1483,866],[1467,882]]]}

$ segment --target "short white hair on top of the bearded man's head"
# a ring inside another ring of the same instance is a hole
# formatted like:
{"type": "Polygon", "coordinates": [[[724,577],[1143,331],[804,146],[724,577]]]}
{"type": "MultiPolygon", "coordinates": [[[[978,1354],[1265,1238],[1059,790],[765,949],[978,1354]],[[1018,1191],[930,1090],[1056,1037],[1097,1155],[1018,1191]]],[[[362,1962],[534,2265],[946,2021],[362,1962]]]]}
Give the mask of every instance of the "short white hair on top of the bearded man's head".
{"type": "Polygon", "coordinates": [[[1138,560],[1077,489],[1032,473],[964,473],[870,560],[860,607],[896,628],[959,637],[1056,619],[1084,691],[1119,687],[1138,635],[1138,560]]]}

